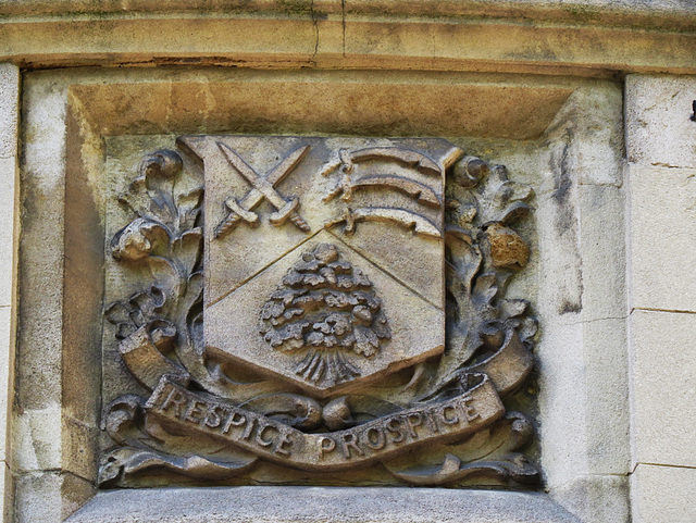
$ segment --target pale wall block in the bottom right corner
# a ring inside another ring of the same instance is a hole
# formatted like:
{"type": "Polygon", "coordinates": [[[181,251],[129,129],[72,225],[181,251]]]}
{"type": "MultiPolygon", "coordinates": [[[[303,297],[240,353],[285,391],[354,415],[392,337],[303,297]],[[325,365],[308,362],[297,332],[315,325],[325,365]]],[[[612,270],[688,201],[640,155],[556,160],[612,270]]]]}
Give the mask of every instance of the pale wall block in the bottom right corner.
{"type": "Polygon", "coordinates": [[[641,464],[631,475],[633,523],[693,523],[696,469],[641,464]]]}

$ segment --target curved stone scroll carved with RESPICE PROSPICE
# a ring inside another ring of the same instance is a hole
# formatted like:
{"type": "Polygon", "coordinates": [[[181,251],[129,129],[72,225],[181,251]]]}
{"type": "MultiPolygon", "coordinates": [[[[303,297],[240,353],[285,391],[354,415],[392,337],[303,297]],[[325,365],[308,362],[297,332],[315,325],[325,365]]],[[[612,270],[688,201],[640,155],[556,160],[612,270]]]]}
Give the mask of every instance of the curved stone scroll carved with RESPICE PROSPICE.
{"type": "Polygon", "coordinates": [[[485,374],[452,398],[406,409],[352,428],[307,434],[256,412],[160,379],[145,410],[151,421],[177,433],[222,438],[269,461],[301,470],[338,471],[387,461],[415,447],[462,439],[505,413],[485,374]]]}

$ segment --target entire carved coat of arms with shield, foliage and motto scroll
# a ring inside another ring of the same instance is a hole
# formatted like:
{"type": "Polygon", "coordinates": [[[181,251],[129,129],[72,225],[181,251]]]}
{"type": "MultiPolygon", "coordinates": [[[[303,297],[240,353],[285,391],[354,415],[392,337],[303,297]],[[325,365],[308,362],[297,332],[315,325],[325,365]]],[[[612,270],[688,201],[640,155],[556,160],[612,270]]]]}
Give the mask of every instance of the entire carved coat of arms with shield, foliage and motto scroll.
{"type": "Polygon", "coordinates": [[[104,410],[103,486],[538,480],[506,406],[534,364],[505,297],[529,187],[442,139],[176,146],[110,239],[138,291],[105,317],[144,393],[104,410]]]}

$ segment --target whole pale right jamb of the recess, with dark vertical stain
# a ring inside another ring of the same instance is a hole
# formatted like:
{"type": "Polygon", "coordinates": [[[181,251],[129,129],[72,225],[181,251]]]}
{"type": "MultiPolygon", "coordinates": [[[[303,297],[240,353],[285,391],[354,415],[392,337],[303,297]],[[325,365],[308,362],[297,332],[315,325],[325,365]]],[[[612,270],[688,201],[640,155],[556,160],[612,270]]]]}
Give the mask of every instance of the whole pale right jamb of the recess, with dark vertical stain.
{"type": "MultiPolygon", "coordinates": [[[[601,103],[588,91],[587,98],[573,99],[564,109],[582,113],[580,100],[586,99],[595,101],[587,112],[604,107],[616,115],[616,90],[601,94],[601,103]]],[[[616,125],[602,126],[599,135],[618,144],[618,130],[616,125]]],[[[630,471],[624,195],[618,187],[622,176],[616,157],[598,173],[583,167],[588,157],[580,151],[592,152],[596,144],[592,125],[576,129],[573,119],[560,120],[548,138],[550,172],[535,212],[540,271],[536,301],[545,319],[536,350],[543,369],[542,462],[551,491],[580,503],[594,487],[579,475],[630,471]]],[[[621,496],[619,489],[613,493],[621,496]]],[[[605,510],[613,507],[617,512],[602,518],[621,521],[625,505],[610,499],[605,510]]]]}

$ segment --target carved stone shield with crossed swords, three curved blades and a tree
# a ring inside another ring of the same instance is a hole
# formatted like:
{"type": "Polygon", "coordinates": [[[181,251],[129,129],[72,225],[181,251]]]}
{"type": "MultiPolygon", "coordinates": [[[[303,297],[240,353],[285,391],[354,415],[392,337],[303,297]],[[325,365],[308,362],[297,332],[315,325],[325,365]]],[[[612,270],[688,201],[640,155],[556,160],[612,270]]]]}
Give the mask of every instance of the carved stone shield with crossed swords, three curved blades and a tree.
{"type": "Polygon", "coordinates": [[[208,351],[326,397],[444,350],[444,173],[458,148],[179,142],[206,173],[208,351]]]}

